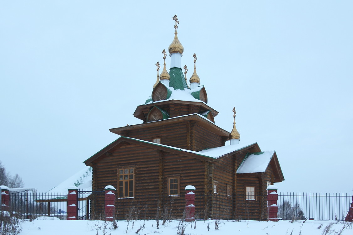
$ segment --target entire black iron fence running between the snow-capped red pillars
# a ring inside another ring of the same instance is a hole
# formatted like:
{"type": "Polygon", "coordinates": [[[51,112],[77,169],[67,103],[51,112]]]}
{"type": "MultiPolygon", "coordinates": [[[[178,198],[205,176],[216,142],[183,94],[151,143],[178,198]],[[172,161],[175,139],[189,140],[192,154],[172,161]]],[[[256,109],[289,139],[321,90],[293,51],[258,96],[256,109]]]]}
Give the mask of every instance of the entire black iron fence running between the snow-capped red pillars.
{"type": "MultiPolygon", "coordinates": [[[[104,191],[79,191],[79,219],[104,217],[104,191]],[[94,210],[91,210],[93,206],[94,210]],[[94,215],[91,215],[94,211],[94,215]]],[[[55,216],[66,219],[67,193],[10,192],[10,209],[20,218],[55,216]]],[[[279,193],[278,217],[284,220],[310,219],[344,220],[352,202],[348,193],[279,193]]],[[[183,216],[185,195],[159,196],[136,195],[116,198],[116,219],[178,219],[183,216]]],[[[195,207],[197,219],[256,219],[266,214],[266,196],[197,195],[195,207]],[[264,209],[261,209],[264,208],[264,209]]]]}

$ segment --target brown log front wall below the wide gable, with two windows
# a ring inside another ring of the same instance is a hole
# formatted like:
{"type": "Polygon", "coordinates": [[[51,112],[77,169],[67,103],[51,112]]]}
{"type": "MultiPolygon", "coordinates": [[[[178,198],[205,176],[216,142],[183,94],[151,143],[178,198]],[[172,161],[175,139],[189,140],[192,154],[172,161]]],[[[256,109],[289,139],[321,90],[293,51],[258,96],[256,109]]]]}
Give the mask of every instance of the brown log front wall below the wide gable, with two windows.
{"type": "MultiPolygon", "coordinates": [[[[185,186],[193,185],[197,195],[204,195],[204,162],[136,144],[121,144],[113,153],[94,161],[93,190],[104,190],[106,185],[113,185],[118,190],[118,169],[121,168],[135,169],[135,197],[116,200],[118,219],[126,219],[132,212],[133,215],[139,213],[139,218],[155,218],[158,206],[160,215],[166,207],[173,207],[173,216],[181,218],[185,186]],[[180,196],[168,196],[168,177],[180,177],[180,196]]],[[[104,195],[95,199],[91,201],[91,216],[101,218],[104,215],[104,195]]],[[[204,216],[204,203],[204,198],[196,202],[196,214],[201,218],[204,216]]]]}

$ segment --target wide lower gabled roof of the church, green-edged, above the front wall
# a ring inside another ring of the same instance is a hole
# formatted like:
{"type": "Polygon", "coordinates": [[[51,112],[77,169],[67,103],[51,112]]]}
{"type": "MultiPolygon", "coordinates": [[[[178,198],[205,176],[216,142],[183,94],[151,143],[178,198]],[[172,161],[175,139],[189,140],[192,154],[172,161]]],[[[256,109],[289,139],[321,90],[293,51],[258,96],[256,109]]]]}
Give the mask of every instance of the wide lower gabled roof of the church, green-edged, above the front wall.
{"type": "Polygon", "coordinates": [[[85,160],[84,163],[87,166],[90,166],[91,163],[98,159],[100,156],[104,155],[105,153],[109,152],[109,150],[113,149],[115,146],[117,146],[121,142],[128,142],[132,144],[137,144],[140,146],[146,146],[154,149],[159,149],[162,151],[174,153],[174,154],[180,154],[184,156],[189,156],[197,159],[202,159],[206,161],[213,161],[215,159],[218,159],[220,157],[227,156],[229,154],[234,154],[238,151],[244,150],[244,149],[249,149],[255,147],[256,149],[259,149],[257,143],[251,143],[251,144],[237,144],[237,145],[229,145],[229,146],[222,146],[222,147],[217,147],[217,148],[211,148],[207,150],[202,150],[202,151],[192,151],[192,150],[187,150],[187,149],[182,149],[182,148],[177,148],[173,146],[167,146],[164,144],[157,144],[157,143],[152,143],[149,141],[144,141],[144,140],[138,140],[135,138],[130,138],[130,137],[125,137],[121,136],[114,142],[110,143],[108,146],[104,147],[100,151],[98,151],[96,154],[91,156],[89,159],[85,160]]]}

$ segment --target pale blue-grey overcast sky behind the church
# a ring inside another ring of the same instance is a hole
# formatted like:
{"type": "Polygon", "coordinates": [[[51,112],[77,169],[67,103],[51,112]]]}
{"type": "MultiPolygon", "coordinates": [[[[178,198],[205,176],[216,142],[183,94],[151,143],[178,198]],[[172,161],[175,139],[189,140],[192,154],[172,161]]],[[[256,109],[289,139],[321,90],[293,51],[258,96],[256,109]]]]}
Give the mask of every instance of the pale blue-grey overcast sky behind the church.
{"type": "MultiPolygon", "coordinates": [[[[119,136],[174,37],[216,125],[276,150],[281,192],[352,192],[353,1],[1,1],[0,161],[46,192],[119,136]]],[[[169,56],[167,67],[170,65],[169,56]]],[[[169,67],[168,67],[169,68],[169,67]]]]}

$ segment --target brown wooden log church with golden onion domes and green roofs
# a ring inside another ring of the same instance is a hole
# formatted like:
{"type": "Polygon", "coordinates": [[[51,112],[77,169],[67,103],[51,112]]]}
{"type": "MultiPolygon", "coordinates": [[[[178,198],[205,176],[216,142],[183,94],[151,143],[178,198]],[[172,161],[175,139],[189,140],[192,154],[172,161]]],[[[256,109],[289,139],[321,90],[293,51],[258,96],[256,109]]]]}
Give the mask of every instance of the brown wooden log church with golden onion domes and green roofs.
{"type": "MultiPolygon", "coordinates": [[[[180,218],[183,210],[178,206],[185,206],[184,188],[193,185],[199,218],[264,220],[266,188],[284,180],[276,152],[262,151],[257,143],[239,142],[235,109],[231,132],[215,124],[218,112],[207,105],[206,90],[196,73],[196,54],[190,86],[187,84],[177,16],[173,20],[169,73],[163,50],[163,70],[159,75],[157,62],[151,97],[133,113],[143,123],[110,129],[121,137],[84,161],[92,167],[92,190],[116,187],[117,218],[125,218],[133,203],[140,218],[152,218],[167,205],[180,218]]],[[[91,203],[91,215],[101,214],[104,198],[97,196],[91,203]]]]}

